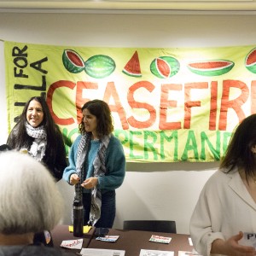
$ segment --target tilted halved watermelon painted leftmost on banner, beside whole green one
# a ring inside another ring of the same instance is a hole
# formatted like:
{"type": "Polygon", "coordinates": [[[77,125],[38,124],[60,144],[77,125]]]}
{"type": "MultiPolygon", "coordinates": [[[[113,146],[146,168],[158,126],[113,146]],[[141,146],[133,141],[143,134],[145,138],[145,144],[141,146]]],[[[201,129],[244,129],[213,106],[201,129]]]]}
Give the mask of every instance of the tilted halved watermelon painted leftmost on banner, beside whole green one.
{"type": "Polygon", "coordinates": [[[70,73],[80,73],[84,70],[83,58],[73,49],[64,49],[62,62],[70,73]]]}

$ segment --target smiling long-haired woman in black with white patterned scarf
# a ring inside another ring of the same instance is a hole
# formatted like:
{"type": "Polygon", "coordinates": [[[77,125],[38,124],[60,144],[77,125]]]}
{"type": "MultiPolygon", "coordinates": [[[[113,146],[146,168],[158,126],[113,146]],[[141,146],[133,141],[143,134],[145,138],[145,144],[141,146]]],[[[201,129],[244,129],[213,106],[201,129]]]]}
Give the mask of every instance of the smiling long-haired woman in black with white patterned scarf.
{"type": "Polygon", "coordinates": [[[26,102],[7,144],[10,148],[26,151],[44,163],[56,181],[61,179],[67,167],[66,150],[61,131],[43,97],[33,96],[26,102]]]}

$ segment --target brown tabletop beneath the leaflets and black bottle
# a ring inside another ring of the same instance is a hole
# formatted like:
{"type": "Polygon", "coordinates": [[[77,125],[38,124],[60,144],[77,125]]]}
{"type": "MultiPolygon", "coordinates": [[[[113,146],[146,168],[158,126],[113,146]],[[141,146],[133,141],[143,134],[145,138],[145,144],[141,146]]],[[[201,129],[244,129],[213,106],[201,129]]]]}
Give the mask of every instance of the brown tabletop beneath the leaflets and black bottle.
{"type": "MultiPolygon", "coordinates": [[[[95,229],[92,228],[88,234],[84,234],[83,248],[125,250],[125,256],[139,256],[141,249],[173,251],[174,256],[178,255],[178,251],[191,252],[193,250],[193,247],[189,245],[189,235],[110,229],[108,236],[119,236],[119,239],[115,242],[108,242],[96,240],[94,231],[95,229]],[[172,240],[169,244],[148,241],[152,235],[172,237],[172,240]]],[[[78,239],[78,237],[73,236],[73,233],[69,232],[68,225],[56,226],[55,229],[51,231],[51,235],[55,247],[60,247],[61,241],[63,240],[78,239]]],[[[71,249],[61,247],[61,251],[71,252],[71,249]]],[[[80,249],[72,250],[72,252],[79,253],[80,249]]]]}

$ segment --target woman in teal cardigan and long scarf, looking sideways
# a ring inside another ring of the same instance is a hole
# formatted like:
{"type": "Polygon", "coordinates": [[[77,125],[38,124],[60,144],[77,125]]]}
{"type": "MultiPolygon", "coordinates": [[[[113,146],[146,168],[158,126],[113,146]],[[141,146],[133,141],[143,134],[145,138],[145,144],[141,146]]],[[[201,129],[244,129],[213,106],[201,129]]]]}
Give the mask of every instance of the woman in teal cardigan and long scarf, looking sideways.
{"type": "Polygon", "coordinates": [[[75,200],[83,202],[84,225],[112,228],[115,218],[115,189],[125,178],[125,154],[113,137],[111,112],[106,102],[93,100],[82,108],[79,137],[63,172],[67,183],[75,185],[75,200]]]}

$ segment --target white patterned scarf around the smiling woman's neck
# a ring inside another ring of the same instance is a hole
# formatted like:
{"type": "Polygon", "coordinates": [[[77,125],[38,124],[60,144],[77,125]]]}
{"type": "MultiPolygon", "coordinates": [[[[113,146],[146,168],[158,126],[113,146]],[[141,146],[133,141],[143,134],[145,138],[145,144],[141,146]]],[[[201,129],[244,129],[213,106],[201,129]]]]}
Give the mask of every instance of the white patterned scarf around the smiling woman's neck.
{"type": "Polygon", "coordinates": [[[46,148],[46,131],[44,126],[38,126],[34,128],[32,125],[26,123],[26,133],[28,136],[33,137],[35,140],[32,143],[28,153],[31,154],[36,160],[41,161],[44,158],[46,148]]]}

